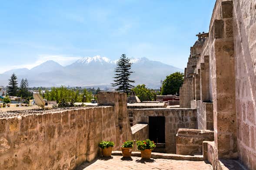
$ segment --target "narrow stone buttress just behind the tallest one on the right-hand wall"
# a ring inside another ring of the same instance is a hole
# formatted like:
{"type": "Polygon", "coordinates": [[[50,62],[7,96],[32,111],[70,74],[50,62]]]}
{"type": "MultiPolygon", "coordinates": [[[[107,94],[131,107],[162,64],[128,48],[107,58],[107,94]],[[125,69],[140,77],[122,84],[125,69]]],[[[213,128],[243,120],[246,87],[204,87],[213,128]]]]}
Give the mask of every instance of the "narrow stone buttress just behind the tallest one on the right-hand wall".
{"type": "Polygon", "coordinates": [[[200,64],[200,96],[203,102],[209,101],[209,56],[204,56],[205,62],[200,64]],[[207,62],[208,61],[208,62],[207,62]]]}

